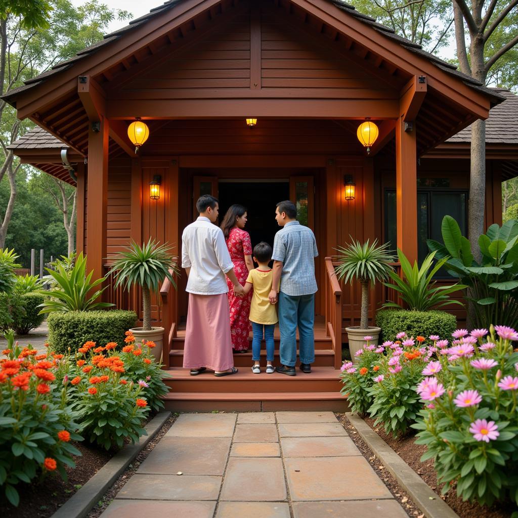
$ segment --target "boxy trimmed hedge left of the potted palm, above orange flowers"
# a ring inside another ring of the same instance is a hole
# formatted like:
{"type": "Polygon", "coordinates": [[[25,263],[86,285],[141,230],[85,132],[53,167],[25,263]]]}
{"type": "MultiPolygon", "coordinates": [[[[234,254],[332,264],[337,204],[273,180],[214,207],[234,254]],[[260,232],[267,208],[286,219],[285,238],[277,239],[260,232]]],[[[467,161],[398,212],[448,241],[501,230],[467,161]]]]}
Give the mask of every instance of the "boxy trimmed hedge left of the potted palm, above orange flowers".
{"type": "Polygon", "coordinates": [[[64,353],[68,348],[77,351],[90,340],[98,346],[105,346],[108,342],[123,344],[124,333],[136,323],[137,313],[122,309],[54,311],[47,317],[49,343],[58,353],[64,353]]]}

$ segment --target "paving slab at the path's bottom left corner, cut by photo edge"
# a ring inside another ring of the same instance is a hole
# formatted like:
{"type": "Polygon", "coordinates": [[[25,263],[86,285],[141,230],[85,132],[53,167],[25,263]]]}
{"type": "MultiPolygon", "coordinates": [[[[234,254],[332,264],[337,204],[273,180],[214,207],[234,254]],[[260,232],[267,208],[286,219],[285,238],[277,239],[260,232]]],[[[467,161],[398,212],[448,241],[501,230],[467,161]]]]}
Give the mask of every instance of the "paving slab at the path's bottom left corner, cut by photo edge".
{"type": "Polygon", "coordinates": [[[142,516],[181,516],[212,518],[216,502],[168,502],[163,500],[113,500],[103,518],[142,518],[142,516]]]}

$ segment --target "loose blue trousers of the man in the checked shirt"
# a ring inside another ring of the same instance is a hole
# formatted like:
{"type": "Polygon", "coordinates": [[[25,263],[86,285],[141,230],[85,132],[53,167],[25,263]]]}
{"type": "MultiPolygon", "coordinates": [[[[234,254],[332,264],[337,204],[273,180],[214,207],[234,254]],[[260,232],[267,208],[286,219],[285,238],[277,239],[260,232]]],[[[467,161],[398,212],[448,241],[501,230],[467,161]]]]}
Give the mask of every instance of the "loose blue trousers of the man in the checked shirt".
{"type": "Polygon", "coordinates": [[[295,367],[297,362],[297,326],[300,363],[315,361],[315,295],[291,296],[279,292],[280,356],[282,365],[295,367]]]}

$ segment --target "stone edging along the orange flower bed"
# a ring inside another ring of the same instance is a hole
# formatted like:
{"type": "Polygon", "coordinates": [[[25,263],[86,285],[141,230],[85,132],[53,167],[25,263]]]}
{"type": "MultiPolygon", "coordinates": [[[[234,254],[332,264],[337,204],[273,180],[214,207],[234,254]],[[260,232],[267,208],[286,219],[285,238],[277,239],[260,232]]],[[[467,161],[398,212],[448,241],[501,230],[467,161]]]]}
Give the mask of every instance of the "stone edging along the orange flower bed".
{"type": "Polygon", "coordinates": [[[70,497],[51,518],[84,518],[99,501],[110,486],[121,476],[135,457],[146,447],[149,441],[169,419],[171,412],[159,412],[145,426],[148,433],[135,444],[126,445],[114,455],[95,475],[84,484],[77,493],[70,497]],[[144,440],[142,440],[144,438],[144,440]]]}

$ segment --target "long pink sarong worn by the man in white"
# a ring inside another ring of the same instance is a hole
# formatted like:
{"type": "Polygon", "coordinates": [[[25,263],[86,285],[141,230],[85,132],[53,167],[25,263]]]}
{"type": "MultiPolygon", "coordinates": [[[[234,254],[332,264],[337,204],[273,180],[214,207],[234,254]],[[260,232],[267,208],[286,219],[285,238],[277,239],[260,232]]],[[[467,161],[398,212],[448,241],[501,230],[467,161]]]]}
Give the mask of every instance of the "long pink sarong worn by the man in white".
{"type": "Polygon", "coordinates": [[[189,294],[183,367],[227,370],[234,366],[228,296],[189,294]]]}

